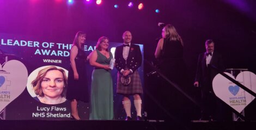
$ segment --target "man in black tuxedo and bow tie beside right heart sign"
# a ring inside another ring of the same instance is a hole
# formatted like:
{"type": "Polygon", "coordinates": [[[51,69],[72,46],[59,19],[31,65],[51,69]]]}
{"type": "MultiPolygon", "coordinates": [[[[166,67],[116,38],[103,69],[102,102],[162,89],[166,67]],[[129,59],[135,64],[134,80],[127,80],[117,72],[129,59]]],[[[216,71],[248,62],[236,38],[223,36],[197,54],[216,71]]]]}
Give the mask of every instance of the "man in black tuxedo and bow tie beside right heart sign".
{"type": "Polygon", "coordinates": [[[206,40],[205,48],[206,52],[199,54],[198,57],[194,86],[199,86],[202,92],[202,115],[200,120],[213,120],[213,116],[218,116],[217,110],[220,109],[220,103],[212,89],[212,80],[218,74],[218,71],[211,66],[222,72],[224,71],[224,64],[221,54],[214,51],[213,40],[206,40]]]}

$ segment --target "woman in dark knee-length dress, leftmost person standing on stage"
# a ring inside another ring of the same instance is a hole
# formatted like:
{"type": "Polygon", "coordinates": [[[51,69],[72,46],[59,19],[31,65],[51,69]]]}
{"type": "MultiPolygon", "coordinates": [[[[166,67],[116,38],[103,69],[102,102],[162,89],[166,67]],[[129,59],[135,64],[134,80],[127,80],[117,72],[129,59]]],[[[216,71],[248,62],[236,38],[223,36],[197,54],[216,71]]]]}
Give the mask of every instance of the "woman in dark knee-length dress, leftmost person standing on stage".
{"type": "Polygon", "coordinates": [[[84,52],[86,34],[77,32],[70,50],[70,69],[66,98],[71,101],[71,119],[81,120],[78,111],[78,101],[89,102],[86,62],[84,52]]]}

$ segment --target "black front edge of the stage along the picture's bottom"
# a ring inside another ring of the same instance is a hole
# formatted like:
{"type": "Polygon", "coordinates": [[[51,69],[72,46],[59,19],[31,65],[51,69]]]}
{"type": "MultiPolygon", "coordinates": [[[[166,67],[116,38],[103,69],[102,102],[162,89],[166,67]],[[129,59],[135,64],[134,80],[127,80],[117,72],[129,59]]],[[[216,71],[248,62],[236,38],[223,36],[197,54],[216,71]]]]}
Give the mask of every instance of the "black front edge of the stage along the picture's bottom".
{"type": "Polygon", "coordinates": [[[1,120],[0,127],[9,129],[255,129],[255,121],[231,121],[231,122],[184,122],[178,125],[172,121],[120,121],[120,120],[1,120]]]}

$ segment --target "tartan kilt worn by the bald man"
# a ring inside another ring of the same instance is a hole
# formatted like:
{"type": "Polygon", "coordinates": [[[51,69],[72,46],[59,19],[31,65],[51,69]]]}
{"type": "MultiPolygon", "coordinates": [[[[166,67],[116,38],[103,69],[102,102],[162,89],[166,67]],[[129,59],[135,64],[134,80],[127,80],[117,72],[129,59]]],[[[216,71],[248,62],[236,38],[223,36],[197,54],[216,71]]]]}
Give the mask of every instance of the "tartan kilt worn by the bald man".
{"type": "Polygon", "coordinates": [[[117,78],[117,94],[142,94],[142,85],[141,85],[141,78],[139,77],[139,72],[136,70],[131,75],[131,83],[129,85],[123,85],[121,83],[121,73],[118,72],[117,78]]]}

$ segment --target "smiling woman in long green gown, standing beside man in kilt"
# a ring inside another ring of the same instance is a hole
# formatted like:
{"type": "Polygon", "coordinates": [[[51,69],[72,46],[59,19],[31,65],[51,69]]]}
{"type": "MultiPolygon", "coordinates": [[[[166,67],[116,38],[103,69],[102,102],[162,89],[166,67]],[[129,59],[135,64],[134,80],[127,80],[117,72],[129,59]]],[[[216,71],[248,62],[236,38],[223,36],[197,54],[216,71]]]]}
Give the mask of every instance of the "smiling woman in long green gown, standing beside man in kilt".
{"type": "Polygon", "coordinates": [[[113,83],[109,63],[113,58],[108,50],[108,38],[102,36],[96,49],[90,54],[90,65],[94,66],[90,99],[90,120],[113,119],[113,83]]]}

